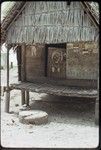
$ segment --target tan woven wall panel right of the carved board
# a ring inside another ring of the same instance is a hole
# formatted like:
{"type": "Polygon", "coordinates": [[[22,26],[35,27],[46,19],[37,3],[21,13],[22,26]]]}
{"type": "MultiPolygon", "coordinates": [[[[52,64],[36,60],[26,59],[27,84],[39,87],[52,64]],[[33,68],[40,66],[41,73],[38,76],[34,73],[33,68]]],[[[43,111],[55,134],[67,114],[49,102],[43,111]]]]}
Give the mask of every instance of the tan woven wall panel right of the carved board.
{"type": "Polygon", "coordinates": [[[99,46],[97,42],[67,43],[67,79],[95,79],[99,70],[99,46]]]}

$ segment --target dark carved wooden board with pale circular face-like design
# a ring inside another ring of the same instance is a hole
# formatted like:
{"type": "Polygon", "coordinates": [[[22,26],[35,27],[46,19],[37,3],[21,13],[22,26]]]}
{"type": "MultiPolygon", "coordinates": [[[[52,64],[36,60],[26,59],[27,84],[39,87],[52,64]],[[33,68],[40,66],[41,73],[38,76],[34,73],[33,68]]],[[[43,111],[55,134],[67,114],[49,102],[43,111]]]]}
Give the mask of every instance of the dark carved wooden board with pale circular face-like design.
{"type": "Polygon", "coordinates": [[[48,77],[55,79],[66,78],[66,49],[48,48],[48,77]]]}

